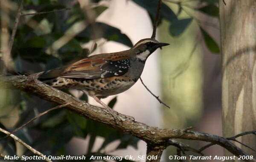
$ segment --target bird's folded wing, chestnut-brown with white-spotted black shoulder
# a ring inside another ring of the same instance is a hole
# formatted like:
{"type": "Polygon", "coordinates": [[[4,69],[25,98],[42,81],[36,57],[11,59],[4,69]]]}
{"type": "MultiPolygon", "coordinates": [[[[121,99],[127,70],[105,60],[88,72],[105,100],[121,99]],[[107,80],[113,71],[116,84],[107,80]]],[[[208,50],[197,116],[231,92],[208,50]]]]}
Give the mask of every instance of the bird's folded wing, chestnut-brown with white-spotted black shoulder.
{"type": "Polygon", "coordinates": [[[123,75],[130,69],[129,56],[125,51],[93,55],[71,64],[60,77],[64,78],[109,78],[123,75]]]}

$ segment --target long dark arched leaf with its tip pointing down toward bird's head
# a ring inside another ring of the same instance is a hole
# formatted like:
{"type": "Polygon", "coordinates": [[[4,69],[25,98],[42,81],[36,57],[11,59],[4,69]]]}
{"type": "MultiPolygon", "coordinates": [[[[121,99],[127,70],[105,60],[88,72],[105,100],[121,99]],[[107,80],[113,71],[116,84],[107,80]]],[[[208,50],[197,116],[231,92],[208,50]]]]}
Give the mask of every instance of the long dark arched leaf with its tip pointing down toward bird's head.
{"type": "Polygon", "coordinates": [[[107,40],[112,40],[112,41],[116,41],[122,44],[125,44],[126,46],[132,47],[132,43],[130,38],[127,37],[127,35],[122,34],[121,30],[110,26],[108,24],[105,23],[93,23],[90,24],[89,26],[87,26],[86,29],[84,29],[82,32],[79,33],[79,35],[76,36],[76,38],[94,38],[94,39],[98,39],[98,38],[105,38],[107,40]],[[93,29],[97,29],[98,31],[100,31],[98,35],[93,35],[94,30],[93,29]]]}

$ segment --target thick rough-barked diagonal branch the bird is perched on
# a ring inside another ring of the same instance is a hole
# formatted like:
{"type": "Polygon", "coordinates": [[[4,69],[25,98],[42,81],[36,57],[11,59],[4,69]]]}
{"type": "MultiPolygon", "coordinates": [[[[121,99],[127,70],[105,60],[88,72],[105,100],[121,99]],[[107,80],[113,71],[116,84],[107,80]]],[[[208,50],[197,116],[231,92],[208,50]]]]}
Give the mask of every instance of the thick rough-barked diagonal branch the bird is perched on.
{"type": "MultiPolygon", "coordinates": [[[[3,76],[0,77],[0,87],[19,89],[57,104],[70,103],[66,106],[67,109],[75,111],[79,115],[92,119],[93,121],[106,124],[109,127],[122,131],[123,133],[142,139],[147,142],[149,147],[153,147],[153,145],[165,146],[169,139],[190,139],[220,145],[236,156],[248,155],[228,139],[213,134],[199,133],[188,129],[178,130],[150,127],[144,123],[136,122],[131,117],[120,113],[118,116],[122,119],[122,122],[115,122],[113,116],[105,109],[92,106],[85,101],[81,101],[78,98],[38,81],[37,77],[39,74],[40,73],[29,76],[3,76]]],[[[151,151],[149,150],[148,152],[151,151]]],[[[256,162],[255,159],[247,161],[256,162]]]]}

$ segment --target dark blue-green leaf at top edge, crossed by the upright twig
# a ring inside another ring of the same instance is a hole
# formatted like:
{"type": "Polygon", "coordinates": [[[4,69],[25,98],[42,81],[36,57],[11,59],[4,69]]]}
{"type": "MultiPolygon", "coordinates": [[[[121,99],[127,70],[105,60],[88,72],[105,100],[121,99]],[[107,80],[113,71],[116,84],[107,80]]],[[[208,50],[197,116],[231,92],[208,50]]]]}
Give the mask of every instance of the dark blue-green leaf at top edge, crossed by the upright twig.
{"type": "MultiPolygon", "coordinates": [[[[146,9],[151,15],[155,16],[157,13],[158,0],[132,0],[139,6],[146,9]]],[[[177,20],[176,14],[165,3],[161,4],[160,17],[164,17],[169,22],[177,20]]]]}

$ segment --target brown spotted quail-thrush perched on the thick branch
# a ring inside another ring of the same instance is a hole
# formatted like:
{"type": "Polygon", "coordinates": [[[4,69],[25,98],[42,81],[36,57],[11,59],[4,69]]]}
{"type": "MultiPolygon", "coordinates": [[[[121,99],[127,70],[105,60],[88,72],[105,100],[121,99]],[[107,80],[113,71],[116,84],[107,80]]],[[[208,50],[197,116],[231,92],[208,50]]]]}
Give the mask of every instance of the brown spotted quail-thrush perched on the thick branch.
{"type": "Polygon", "coordinates": [[[101,98],[131,88],[140,78],[148,56],[167,45],[169,43],[145,38],[125,51],[92,55],[64,67],[41,72],[38,79],[57,89],[82,90],[116,119],[117,112],[102,102],[101,98]]]}

